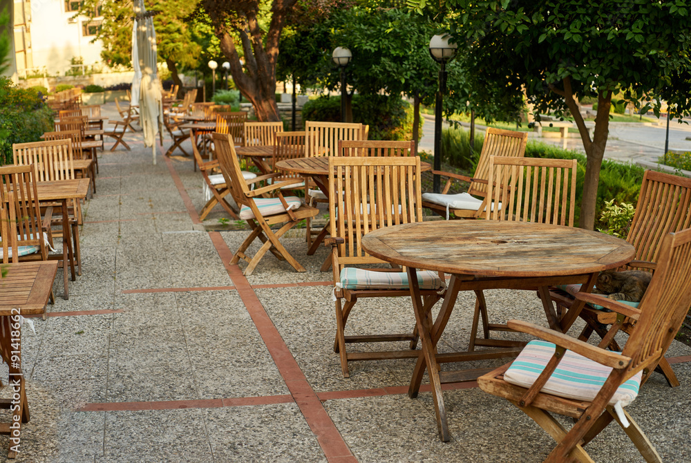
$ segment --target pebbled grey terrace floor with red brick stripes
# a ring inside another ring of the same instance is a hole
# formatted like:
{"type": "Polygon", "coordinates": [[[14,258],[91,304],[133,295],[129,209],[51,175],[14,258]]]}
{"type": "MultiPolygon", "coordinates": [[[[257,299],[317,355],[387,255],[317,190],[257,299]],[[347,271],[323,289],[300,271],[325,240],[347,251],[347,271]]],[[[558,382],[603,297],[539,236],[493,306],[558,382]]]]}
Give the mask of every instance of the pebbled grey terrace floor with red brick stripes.
{"type": "MultiPolygon", "coordinates": [[[[328,250],[306,256],[296,231],[283,243],[306,273],[267,254],[245,278],[244,265],[228,262],[247,231],[210,231],[222,228],[220,207],[200,223],[191,160],[159,151],[153,166],[141,133],[126,140],[132,151],[100,155],[70,299],[58,270],[48,319],[23,330],[32,419],[15,461],[540,462],[549,453],[531,419],[475,383],[445,390],[452,440],[439,442],[430,393],[406,395],[413,360],[353,362],[343,379],[331,274],[319,271],[328,250]]],[[[534,293],[492,291],[488,303],[495,319],[544,323],[534,293]]],[[[457,303],[440,350],[466,346],[473,304],[471,294],[457,303]]],[[[407,298],[359,305],[352,332],[414,323],[407,298]]],[[[628,410],[665,462],[688,462],[691,348],[675,341],[668,357],[681,386],[655,374],[628,410]]],[[[0,437],[0,460],[7,448],[0,437]]],[[[641,460],[617,426],[587,449],[598,462],[641,460]]]]}

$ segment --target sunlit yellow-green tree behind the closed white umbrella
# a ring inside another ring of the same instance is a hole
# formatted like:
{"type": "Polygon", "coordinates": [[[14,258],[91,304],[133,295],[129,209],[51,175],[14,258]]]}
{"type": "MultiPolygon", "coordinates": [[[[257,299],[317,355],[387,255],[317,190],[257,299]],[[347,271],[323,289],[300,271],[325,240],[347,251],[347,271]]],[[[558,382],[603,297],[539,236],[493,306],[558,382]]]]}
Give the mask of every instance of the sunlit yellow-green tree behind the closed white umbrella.
{"type": "MultiPolygon", "coordinates": [[[[202,53],[200,42],[203,37],[197,33],[196,23],[189,21],[197,3],[189,0],[144,1],[146,10],[158,12],[153,17],[158,59],[167,64],[177,85],[182,85],[178,70],[196,68],[202,53]]],[[[111,67],[132,66],[132,0],[86,0],[79,14],[93,17],[97,12],[103,16],[101,29],[95,37],[103,43],[102,59],[111,67]]]]}

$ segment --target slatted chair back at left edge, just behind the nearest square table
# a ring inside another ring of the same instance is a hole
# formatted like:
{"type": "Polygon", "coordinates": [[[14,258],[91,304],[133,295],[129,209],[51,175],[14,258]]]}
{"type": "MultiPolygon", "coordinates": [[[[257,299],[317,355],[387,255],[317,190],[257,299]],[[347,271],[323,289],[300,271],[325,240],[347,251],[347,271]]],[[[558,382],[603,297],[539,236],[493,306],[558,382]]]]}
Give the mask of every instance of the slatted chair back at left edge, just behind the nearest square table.
{"type": "Polygon", "coordinates": [[[34,164],[28,166],[0,167],[0,200],[7,205],[8,223],[3,236],[3,263],[8,263],[11,248],[12,262],[19,262],[20,246],[39,248],[41,258],[46,260],[48,252],[41,228],[34,164]]]}

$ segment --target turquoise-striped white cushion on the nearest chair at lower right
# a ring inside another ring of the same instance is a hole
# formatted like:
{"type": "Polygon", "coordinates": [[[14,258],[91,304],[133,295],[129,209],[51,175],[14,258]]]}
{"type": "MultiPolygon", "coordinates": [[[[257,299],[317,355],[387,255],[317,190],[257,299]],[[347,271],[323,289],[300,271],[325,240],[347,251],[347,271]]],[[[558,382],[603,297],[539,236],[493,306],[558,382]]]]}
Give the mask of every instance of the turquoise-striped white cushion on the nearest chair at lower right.
{"type": "MultiPolygon", "coordinates": [[[[504,380],[529,388],[554,355],[554,348],[554,344],[547,341],[530,341],[504,373],[504,380]]],[[[610,372],[612,368],[567,350],[541,392],[566,399],[591,401],[600,392],[610,372]]],[[[621,401],[621,406],[630,404],[638,395],[641,375],[642,372],[638,372],[619,386],[609,404],[614,405],[618,401],[621,401]]]]}

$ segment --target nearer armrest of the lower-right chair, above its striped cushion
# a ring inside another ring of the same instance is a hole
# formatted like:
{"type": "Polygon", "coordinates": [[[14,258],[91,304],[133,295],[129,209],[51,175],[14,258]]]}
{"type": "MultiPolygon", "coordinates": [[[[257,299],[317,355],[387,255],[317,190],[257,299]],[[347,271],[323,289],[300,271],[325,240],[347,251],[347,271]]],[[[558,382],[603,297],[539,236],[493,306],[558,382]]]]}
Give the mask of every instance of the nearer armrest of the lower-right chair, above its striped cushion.
{"type": "Polygon", "coordinates": [[[512,330],[532,334],[540,339],[545,339],[545,341],[554,343],[563,348],[567,348],[568,350],[576,352],[577,354],[583,355],[583,357],[587,357],[592,361],[600,363],[600,365],[609,366],[615,370],[626,368],[631,363],[630,357],[625,357],[616,352],[612,352],[611,350],[598,348],[597,346],[593,346],[585,341],[572,338],[568,334],[551,330],[550,328],[545,328],[544,326],[520,320],[509,320],[508,325],[512,330]]]}

